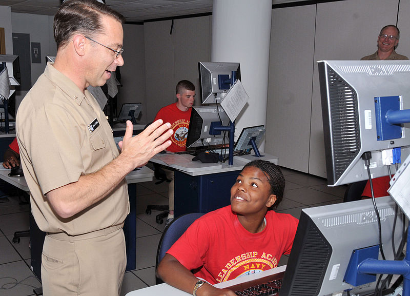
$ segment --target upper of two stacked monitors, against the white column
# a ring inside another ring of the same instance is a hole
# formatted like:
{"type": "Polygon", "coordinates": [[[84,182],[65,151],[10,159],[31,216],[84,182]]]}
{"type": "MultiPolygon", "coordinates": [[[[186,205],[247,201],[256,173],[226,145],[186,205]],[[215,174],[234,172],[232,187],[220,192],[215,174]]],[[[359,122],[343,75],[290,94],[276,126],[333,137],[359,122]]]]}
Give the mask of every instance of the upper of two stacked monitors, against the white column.
{"type": "Polygon", "coordinates": [[[202,104],[220,103],[223,94],[240,80],[239,63],[198,62],[198,67],[202,104]]]}

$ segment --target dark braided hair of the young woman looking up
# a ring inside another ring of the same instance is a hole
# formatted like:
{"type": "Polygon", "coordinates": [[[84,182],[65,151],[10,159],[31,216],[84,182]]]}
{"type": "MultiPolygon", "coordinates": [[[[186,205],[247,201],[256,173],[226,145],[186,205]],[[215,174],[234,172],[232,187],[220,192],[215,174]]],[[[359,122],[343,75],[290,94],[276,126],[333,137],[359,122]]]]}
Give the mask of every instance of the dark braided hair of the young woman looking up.
{"type": "Polygon", "coordinates": [[[285,179],[279,167],[274,163],[262,160],[247,163],[243,169],[247,167],[256,167],[260,169],[268,178],[269,184],[271,185],[270,194],[276,195],[276,202],[269,208],[269,210],[276,209],[283,199],[283,191],[285,189],[285,179]]]}

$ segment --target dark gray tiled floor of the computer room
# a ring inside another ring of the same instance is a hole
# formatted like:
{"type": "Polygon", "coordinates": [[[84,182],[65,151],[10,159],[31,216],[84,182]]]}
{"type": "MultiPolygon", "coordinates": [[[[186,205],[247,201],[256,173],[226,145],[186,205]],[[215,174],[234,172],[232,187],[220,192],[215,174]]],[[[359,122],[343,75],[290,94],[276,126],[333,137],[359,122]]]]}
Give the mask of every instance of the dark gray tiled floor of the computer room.
{"type": "MultiPolygon", "coordinates": [[[[327,187],[326,180],[282,168],[286,187],[278,212],[290,213],[299,218],[303,208],[341,203],[345,186],[327,187]]],[[[155,285],[155,257],[158,242],[165,224],[155,222],[153,211],[145,213],[148,204],[168,204],[168,185],[155,185],[156,181],[137,185],[137,264],[136,269],[125,274],[121,295],[130,291],[155,285]]],[[[13,194],[11,194],[13,195],[13,194]]],[[[0,295],[34,295],[33,288],[40,282],[30,270],[29,238],[21,238],[13,244],[14,231],[28,229],[29,207],[20,205],[16,196],[0,203],[0,295]]],[[[282,256],[280,265],[286,264],[282,256]]]]}

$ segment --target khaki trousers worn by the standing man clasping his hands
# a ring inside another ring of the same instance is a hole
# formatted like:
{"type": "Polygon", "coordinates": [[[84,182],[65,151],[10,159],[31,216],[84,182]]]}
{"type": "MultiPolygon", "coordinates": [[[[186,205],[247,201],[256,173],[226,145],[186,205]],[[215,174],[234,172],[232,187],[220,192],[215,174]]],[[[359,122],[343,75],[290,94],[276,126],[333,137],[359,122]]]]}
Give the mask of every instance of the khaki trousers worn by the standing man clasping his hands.
{"type": "Polygon", "coordinates": [[[93,232],[96,237],[48,233],[42,254],[44,296],[118,296],[127,258],[124,231],[114,228],[93,232]]]}

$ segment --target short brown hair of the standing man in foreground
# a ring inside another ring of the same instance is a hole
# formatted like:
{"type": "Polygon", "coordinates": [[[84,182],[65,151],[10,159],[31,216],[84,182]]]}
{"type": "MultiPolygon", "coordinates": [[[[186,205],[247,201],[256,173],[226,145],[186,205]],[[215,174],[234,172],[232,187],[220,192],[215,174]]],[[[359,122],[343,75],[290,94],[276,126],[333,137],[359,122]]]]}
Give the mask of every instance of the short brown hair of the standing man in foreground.
{"type": "Polygon", "coordinates": [[[120,23],[125,17],[96,0],[67,0],[54,16],[54,40],[57,49],[66,46],[74,33],[92,37],[104,33],[101,16],[113,17],[120,23]]]}

